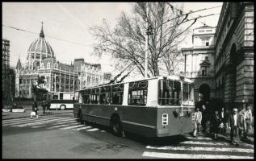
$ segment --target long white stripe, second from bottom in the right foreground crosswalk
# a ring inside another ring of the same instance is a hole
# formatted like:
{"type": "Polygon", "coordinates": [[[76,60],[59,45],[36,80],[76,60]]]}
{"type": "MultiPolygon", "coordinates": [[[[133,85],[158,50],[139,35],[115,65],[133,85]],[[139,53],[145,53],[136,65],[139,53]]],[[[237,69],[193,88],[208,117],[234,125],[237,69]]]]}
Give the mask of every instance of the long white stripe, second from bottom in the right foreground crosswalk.
{"type": "Polygon", "coordinates": [[[233,147],[151,147],[147,146],[147,149],[157,149],[157,150],[174,150],[174,151],[225,151],[225,152],[244,152],[244,153],[254,153],[254,149],[245,149],[245,148],[233,148],[233,147]]]}

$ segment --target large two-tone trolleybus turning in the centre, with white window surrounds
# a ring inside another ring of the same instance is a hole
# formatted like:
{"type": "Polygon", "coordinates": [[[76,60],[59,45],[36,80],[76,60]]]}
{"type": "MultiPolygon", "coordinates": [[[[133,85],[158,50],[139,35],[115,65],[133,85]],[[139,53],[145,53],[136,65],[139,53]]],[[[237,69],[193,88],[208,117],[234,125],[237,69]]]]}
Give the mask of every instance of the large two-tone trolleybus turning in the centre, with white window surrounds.
{"type": "Polygon", "coordinates": [[[191,80],[157,76],[82,89],[78,91],[73,116],[110,126],[117,136],[128,131],[151,138],[191,132],[194,110],[191,80]]]}

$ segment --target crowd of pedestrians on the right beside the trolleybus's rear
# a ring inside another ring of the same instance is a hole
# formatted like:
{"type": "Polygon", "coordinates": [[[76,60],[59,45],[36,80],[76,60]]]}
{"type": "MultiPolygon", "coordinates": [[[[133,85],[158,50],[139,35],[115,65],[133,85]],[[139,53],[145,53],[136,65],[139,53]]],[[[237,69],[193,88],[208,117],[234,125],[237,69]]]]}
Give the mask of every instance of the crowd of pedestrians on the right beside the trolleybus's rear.
{"type": "Polygon", "coordinates": [[[197,108],[194,115],[195,130],[193,135],[196,136],[200,133],[201,127],[203,132],[209,131],[214,139],[217,139],[217,134],[227,135],[227,131],[230,130],[230,138],[233,145],[238,145],[237,137],[247,139],[247,135],[252,126],[252,112],[250,105],[246,105],[246,109],[242,109],[238,112],[237,108],[233,108],[232,114],[229,114],[228,110],[224,107],[214,111],[211,114],[207,111],[205,105],[202,106],[202,112],[197,108]]]}

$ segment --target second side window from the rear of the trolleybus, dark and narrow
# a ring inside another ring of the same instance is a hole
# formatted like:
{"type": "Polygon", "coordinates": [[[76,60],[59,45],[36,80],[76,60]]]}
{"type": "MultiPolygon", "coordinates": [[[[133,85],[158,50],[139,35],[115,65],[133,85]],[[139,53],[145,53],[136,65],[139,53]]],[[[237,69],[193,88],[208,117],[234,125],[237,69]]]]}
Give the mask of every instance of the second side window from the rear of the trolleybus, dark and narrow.
{"type": "Polygon", "coordinates": [[[111,105],[122,105],[124,84],[111,85],[111,105]]]}

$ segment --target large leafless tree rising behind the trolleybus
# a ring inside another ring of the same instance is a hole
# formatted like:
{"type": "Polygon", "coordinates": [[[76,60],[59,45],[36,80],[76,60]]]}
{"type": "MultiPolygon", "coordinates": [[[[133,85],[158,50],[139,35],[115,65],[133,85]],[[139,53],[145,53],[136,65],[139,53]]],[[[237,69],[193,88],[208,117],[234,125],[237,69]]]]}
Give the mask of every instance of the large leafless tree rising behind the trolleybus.
{"type": "MultiPolygon", "coordinates": [[[[153,35],[149,37],[149,71],[148,76],[159,75],[159,62],[168,59],[174,48],[184,39],[189,27],[183,27],[188,14],[183,9],[176,10],[167,2],[138,2],[133,6],[133,16],[122,13],[118,23],[111,30],[107,20],[102,26],[90,27],[94,38],[98,40],[94,52],[99,56],[109,52],[121,64],[132,64],[139,72],[145,72],[146,23],[152,27],[153,35]],[[148,11],[147,11],[147,7],[148,11]],[[166,57],[167,56],[167,57],[166,57]]],[[[177,53],[178,54],[178,53],[177,53]]],[[[131,67],[132,68],[132,67],[131,67]]],[[[170,69],[167,69],[170,70],[170,69]]]]}

